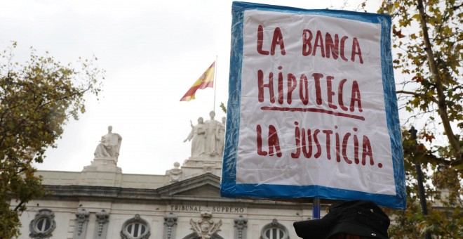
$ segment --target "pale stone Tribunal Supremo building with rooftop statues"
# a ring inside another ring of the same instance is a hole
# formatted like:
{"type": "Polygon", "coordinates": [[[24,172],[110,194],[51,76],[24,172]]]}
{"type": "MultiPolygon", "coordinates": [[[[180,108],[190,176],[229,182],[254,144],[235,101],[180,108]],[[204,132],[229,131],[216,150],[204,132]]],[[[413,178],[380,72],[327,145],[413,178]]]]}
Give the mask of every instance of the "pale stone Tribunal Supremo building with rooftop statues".
{"type": "Polygon", "coordinates": [[[38,173],[53,195],[29,202],[20,238],[296,239],[293,222],[311,218],[311,203],[221,198],[217,152],[176,162],[164,175],[123,174],[121,137],[105,136],[111,151],[99,146],[81,172],[38,173]]]}

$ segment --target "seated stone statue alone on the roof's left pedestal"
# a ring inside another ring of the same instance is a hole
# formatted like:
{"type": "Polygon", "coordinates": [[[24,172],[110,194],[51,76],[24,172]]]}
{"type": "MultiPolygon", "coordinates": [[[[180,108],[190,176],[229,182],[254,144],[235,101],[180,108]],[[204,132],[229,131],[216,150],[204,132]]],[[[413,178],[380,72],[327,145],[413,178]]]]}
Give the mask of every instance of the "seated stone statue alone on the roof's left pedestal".
{"type": "Polygon", "coordinates": [[[112,133],[112,126],[108,127],[108,134],[101,137],[95,149],[95,159],[113,159],[117,162],[119,150],[121,149],[122,137],[119,134],[112,133]]]}

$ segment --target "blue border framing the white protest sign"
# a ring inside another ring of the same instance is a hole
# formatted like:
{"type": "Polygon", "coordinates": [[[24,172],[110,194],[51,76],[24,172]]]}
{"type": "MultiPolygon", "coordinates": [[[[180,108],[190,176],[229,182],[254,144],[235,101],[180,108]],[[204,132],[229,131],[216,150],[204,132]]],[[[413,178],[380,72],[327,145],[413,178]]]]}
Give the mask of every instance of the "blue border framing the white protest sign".
{"type": "Polygon", "coordinates": [[[391,18],[389,15],[358,13],[337,10],[309,10],[267,4],[252,4],[234,1],[232,4],[231,52],[229,71],[229,101],[227,105],[227,134],[225,138],[222,183],[220,193],[227,198],[273,198],[292,199],[326,198],[331,200],[355,200],[368,198],[384,207],[404,209],[406,207],[405,173],[403,167],[402,137],[396,102],[396,89],[391,55],[391,18]],[[396,195],[364,193],[354,190],[328,188],[324,186],[286,186],[271,184],[236,184],[236,154],[239,139],[241,105],[241,70],[243,63],[243,17],[246,10],[278,11],[287,13],[326,15],[381,25],[381,56],[384,103],[387,127],[391,138],[396,195]],[[302,193],[301,193],[302,192],[302,193]]]}

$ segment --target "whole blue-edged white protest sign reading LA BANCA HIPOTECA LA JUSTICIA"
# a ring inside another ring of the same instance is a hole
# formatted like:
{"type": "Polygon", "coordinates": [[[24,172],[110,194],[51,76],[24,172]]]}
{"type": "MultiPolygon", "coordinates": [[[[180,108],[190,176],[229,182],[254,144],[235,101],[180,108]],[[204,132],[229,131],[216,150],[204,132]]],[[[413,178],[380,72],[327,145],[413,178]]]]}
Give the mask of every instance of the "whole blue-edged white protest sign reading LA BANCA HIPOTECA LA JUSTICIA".
{"type": "Polygon", "coordinates": [[[405,208],[391,19],[234,2],[221,194],[405,208]]]}

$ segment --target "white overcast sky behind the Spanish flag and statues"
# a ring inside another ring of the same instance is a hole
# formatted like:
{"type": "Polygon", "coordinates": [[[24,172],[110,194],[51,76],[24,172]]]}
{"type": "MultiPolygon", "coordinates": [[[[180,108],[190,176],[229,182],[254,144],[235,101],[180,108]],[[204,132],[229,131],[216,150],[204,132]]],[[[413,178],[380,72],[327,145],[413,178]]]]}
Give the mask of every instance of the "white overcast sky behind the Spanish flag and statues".
{"type": "MultiPolygon", "coordinates": [[[[192,120],[208,119],[216,91],[216,120],[228,101],[231,2],[180,1],[0,1],[0,50],[18,41],[15,60],[29,47],[49,51],[62,63],[98,57],[106,70],[100,101],[86,97],[87,112],[65,125],[58,148],[49,149],[41,170],[80,172],[107,127],[121,134],[118,166],[126,174],[164,174],[190,156],[183,143],[192,120]],[[217,60],[215,89],[180,98],[217,60]]],[[[253,1],[311,9],[340,9],[344,1],[253,1]]],[[[349,1],[354,10],[361,1],[349,1]]],[[[375,12],[377,3],[369,3],[375,12]]]]}

